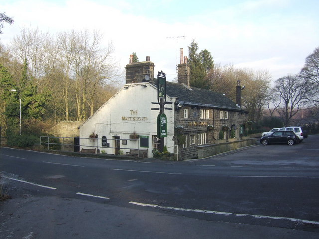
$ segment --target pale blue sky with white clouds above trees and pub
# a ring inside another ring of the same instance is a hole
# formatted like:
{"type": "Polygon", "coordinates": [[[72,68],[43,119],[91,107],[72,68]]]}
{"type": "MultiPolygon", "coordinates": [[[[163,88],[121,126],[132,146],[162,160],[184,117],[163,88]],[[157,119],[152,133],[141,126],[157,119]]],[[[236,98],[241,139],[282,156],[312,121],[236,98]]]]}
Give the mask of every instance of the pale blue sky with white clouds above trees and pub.
{"type": "Polygon", "coordinates": [[[0,12],[14,19],[2,28],[4,45],[22,28],[98,30],[123,70],[136,52],[168,81],[192,40],[215,64],[266,70],[273,81],[297,74],[319,47],[318,0],[0,0],[0,12]]]}

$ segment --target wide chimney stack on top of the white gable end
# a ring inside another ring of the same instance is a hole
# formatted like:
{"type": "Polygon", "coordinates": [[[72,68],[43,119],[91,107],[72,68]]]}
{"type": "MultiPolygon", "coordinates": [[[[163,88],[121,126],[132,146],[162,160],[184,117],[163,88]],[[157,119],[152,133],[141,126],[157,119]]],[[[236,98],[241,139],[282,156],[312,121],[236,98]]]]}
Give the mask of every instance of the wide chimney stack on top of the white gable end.
{"type": "Polygon", "coordinates": [[[125,66],[125,83],[145,82],[147,75],[150,80],[154,79],[154,63],[150,61],[150,57],[146,57],[146,61],[133,62],[133,55],[130,55],[130,63],[125,66]]]}

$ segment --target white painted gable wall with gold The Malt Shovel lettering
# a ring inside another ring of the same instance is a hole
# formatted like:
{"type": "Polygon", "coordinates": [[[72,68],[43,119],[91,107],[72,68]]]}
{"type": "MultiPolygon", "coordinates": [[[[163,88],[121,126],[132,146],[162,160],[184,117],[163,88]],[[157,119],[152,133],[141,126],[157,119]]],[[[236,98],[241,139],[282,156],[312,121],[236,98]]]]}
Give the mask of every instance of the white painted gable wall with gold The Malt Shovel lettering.
{"type": "MultiPolygon", "coordinates": [[[[167,97],[166,101],[174,102],[175,99],[167,97]]],[[[80,144],[81,148],[90,148],[90,146],[101,146],[102,136],[107,137],[110,148],[101,148],[108,154],[114,154],[115,140],[113,137],[120,137],[121,150],[128,152],[129,149],[138,148],[137,141],[129,140],[130,134],[149,136],[148,157],[152,157],[152,135],[157,134],[157,116],[160,110],[151,110],[151,108],[160,107],[151,102],[158,102],[157,89],[148,82],[126,84],[111,99],[109,99],[101,108],[99,108],[89,119],[80,126],[80,144]],[[144,87],[145,85],[146,87],[144,87]],[[133,118],[139,120],[133,120],[133,118]],[[129,120],[131,119],[131,120],[129,120]],[[98,134],[97,140],[85,139],[95,132],[98,134]],[[122,145],[121,139],[127,139],[127,145],[122,145]]],[[[170,153],[174,152],[174,105],[165,105],[173,110],[165,110],[167,116],[168,135],[165,138],[165,145],[170,153]]],[[[145,148],[141,148],[145,149],[145,148]]]]}

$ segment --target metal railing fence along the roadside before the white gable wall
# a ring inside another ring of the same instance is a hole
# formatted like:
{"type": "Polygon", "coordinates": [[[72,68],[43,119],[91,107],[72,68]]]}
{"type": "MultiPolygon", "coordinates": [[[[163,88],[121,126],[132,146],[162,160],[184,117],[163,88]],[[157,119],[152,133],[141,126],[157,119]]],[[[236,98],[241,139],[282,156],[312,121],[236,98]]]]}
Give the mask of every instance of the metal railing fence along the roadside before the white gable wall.
{"type": "Polygon", "coordinates": [[[139,139],[119,139],[119,138],[80,138],[80,137],[49,137],[41,136],[40,145],[48,150],[88,153],[88,154],[105,154],[105,155],[129,155],[145,156],[145,151],[140,149],[139,139]],[[120,143],[120,141],[122,143],[120,143]],[[137,147],[121,147],[127,145],[127,142],[137,143],[137,147]],[[131,153],[134,151],[135,153],[131,153]],[[140,155],[143,152],[143,155],[140,155]]]}

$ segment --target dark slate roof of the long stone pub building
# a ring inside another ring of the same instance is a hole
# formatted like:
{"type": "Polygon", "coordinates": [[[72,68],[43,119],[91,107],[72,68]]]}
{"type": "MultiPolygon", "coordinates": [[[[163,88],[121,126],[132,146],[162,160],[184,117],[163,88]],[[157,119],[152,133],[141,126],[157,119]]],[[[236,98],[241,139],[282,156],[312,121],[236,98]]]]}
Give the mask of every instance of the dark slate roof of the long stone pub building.
{"type": "MultiPolygon", "coordinates": [[[[157,86],[157,79],[150,83],[157,86]]],[[[221,93],[188,87],[185,84],[166,81],[166,94],[169,97],[177,97],[176,102],[183,105],[247,112],[221,93]]]]}

